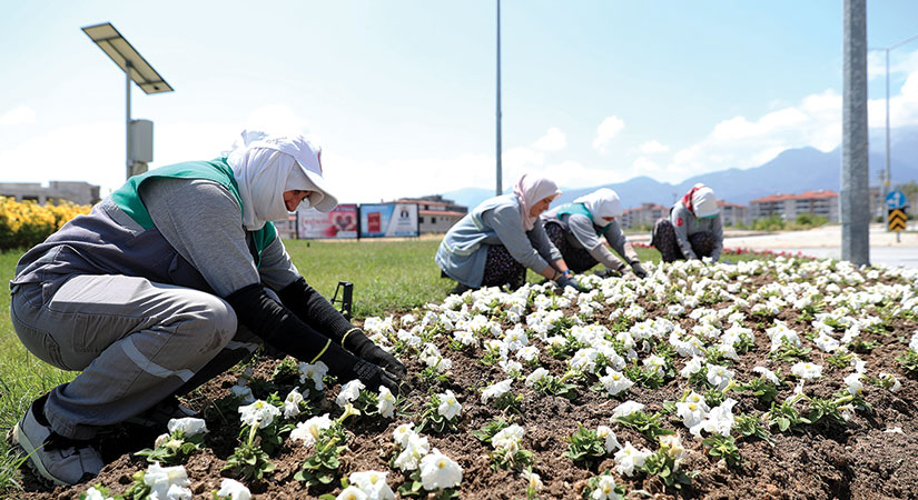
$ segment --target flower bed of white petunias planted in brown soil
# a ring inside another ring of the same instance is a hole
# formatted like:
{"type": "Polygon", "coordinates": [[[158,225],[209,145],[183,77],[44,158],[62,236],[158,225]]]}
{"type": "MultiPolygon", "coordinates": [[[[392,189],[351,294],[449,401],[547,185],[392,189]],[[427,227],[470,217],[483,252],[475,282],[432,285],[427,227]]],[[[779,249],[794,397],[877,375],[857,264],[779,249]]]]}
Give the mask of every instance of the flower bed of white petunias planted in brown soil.
{"type": "MultiPolygon", "coordinates": [[[[366,319],[413,374],[406,398],[260,359],[189,399],[200,448],[131,444],[187,450],[176,491],[195,498],[918,497],[918,272],[648,268],[366,319]]],[[[97,480],[20,497],[124,496],[162,474],[156,450],[106,442],[97,480]]]]}

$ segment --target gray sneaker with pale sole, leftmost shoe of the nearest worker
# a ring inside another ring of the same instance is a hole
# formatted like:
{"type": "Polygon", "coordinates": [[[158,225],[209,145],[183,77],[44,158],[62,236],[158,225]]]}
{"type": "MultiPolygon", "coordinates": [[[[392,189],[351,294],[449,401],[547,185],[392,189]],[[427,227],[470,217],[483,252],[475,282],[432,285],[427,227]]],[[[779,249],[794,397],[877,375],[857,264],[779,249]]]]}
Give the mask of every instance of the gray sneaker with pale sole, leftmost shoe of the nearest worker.
{"type": "Polygon", "coordinates": [[[26,411],[11,438],[29,457],[31,467],[55,484],[76,484],[95,478],[102,470],[102,457],[89,443],[65,438],[51,430],[45,418],[48,394],[36,400],[26,411]]]}

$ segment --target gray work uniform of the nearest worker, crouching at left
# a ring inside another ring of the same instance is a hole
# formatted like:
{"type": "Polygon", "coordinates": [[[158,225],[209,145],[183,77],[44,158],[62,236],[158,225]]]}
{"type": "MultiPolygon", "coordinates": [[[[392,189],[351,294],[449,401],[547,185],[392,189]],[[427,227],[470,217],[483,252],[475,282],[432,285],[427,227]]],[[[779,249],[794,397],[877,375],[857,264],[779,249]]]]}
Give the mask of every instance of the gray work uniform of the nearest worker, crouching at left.
{"type": "Polygon", "coordinates": [[[55,367],[82,370],[45,406],[69,438],[92,438],[235,364],[260,340],[221,297],[254,283],[279,290],[299,276],[279,238],[256,263],[225,186],[151,178],[139,196],[152,229],[108,197],[27,252],[11,281],[22,343],[55,367]]]}

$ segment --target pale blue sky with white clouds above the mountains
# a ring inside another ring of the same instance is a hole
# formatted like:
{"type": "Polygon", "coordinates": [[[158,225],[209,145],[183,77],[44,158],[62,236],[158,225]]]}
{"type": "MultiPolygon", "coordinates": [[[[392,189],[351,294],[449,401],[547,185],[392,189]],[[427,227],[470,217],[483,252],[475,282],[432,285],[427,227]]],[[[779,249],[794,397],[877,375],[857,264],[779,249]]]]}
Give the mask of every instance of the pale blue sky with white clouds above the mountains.
{"type": "MultiPolygon", "coordinates": [[[[502,2],[504,188],[681,181],[841,140],[842,1],[502,2]]],[[[245,127],[322,143],[343,202],[493,189],[495,2],[45,1],[0,7],[0,181],[124,181],[124,73],[80,30],[110,21],[176,89],[132,89],[151,167],[245,127]]],[[[868,44],[918,2],[868,1],[868,44]]],[[[885,120],[871,52],[869,120],[885,120]]],[[[918,123],[918,41],[891,53],[894,127],[918,123]]]]}

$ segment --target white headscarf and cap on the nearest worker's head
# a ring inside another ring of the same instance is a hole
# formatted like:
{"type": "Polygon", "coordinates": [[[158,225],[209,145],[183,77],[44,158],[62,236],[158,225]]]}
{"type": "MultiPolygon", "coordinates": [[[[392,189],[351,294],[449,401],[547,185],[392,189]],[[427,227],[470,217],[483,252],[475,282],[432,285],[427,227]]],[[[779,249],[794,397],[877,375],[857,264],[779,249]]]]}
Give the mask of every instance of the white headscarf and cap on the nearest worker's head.
{"type": "Polygon", "coordinates": [[[287,219],[285,191],[313,191],[300,208],[332,210],[337,200],[320,186],[324,179],[319,154],[320,150],[302,136],[287,138],[243,131],[241,141],[233,146],[226,159],[243,199],[243,226],[257,231],[267,221],[287,219]]]}

